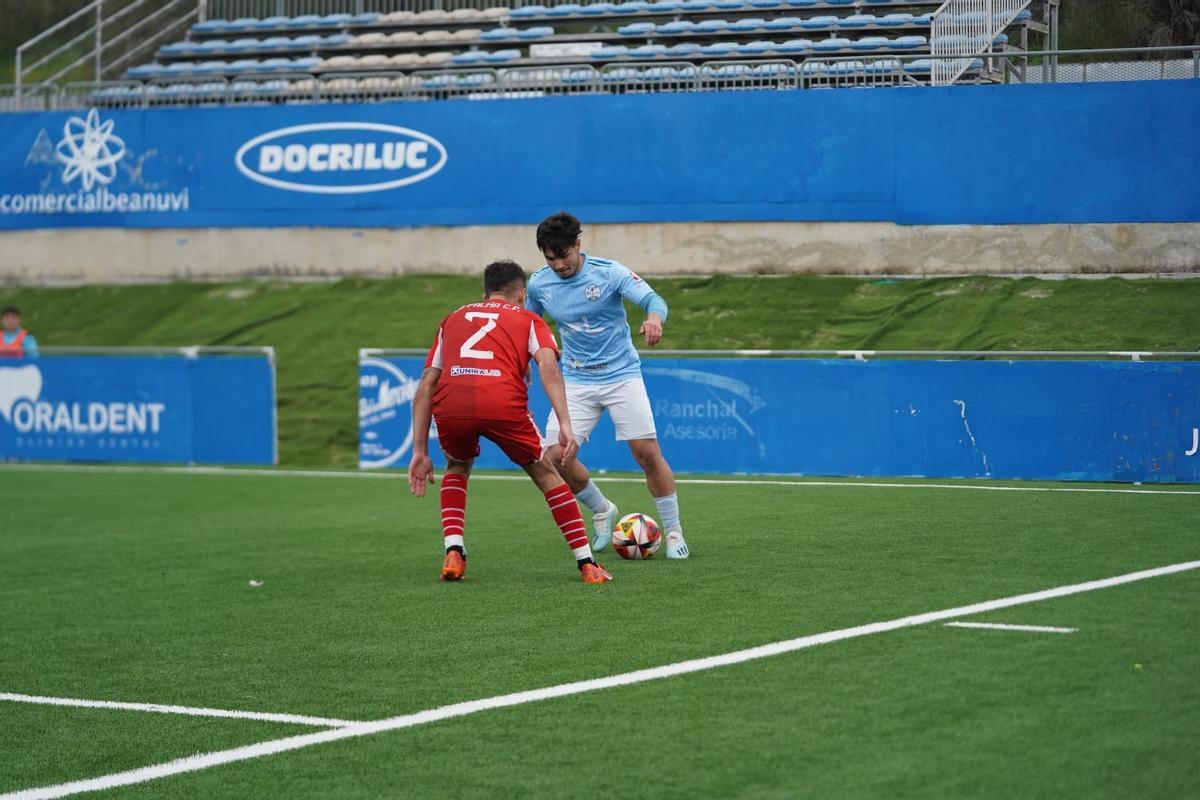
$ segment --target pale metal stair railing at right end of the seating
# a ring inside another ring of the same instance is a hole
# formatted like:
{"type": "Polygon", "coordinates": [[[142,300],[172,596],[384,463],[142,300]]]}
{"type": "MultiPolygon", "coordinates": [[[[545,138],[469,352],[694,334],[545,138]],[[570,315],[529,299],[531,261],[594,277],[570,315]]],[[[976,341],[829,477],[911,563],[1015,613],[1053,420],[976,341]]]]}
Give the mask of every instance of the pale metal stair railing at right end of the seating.
{"type": "Polygon", "coordinates": [[[948,86],[958,80],[1028,6],[1030,0],[946,0],[934,12],[930,34],[932,84],[948,86]]]}

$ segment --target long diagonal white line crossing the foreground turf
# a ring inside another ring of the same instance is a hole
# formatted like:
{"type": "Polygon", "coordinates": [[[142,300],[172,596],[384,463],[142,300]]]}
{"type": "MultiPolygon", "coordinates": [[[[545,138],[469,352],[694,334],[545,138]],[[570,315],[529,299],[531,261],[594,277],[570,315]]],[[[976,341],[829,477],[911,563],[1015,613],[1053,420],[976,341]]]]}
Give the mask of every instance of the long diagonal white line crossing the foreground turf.
{"type": "Polygon", "coordinates": [[[514,705],[524,705],[526,703],[536,703],[539,700],[546,700],[557,697],[569,697],[571,694],[594,692],[602,688],[613,688],[616,686],[629,686],[632,684],[642,684],[649,680],[658,680],[661,678],[674,678],[676,675],[686,675],[689,673],[703,672],[706,669],[714,669],[716,667],[728,667],[731,664],[739,664],[739,663],[745,663],[748,661],[756,661],[758,658],[766,658],[768,656],[778,656],[784,652],[794,652],[797,650],[804,650],[806,648],[812,648],[818,644],[830,644],[833,642],[842,642],[845,639],[853,639],[863,636],[872,636],[875,633],[887,633],[888,631],[896,631],[900,628],[913,627],[916,625],[940,622],[942,620],[953,619],[956,616],[982,614],[984,612],[996,610],[997,608],[1010,608],[1013,606],[1022,606],[1025,603],[1036,603],[1044,600],[1066,597],[1068,595],[1078,595],[1085,591],[1096,591],[1097,589],[1109,589],[1111,587],[1120,587],[1122,584],[1134,583],[1136,581],[1146,581],[1148,578],[1157,578],[1160,576],[1174,575],[1176,572],[1186,572],[1188,570],[1195,570],[1195,569],[1200,569],[1200,561],[1186,561],[1182,564],[1172,564],[1169,566],[1162,566],[1153,570],[1142,570],[1140,572],[1130,572],[1128,575],[1120,575],[1112,578],[1104,578],[1100,581],[1088,581],[1087,583],[1076,583],[1067,587],[1058,587],[1056,589],[1045,589],[1042,591],[1033,591],[1024,595],[1015,595],[1012,597],[1001,597],[1000,600],[989,600],[985,602],[972,603],[970,606],[959,606],[958,608],[947,608],[944,610],[929,612],[925,614],[916,614],[913,616],[902,616],[900,619],[894,619],[883,622],[870,622],[868,625],[846,627],[839,631],[828,631],[826,633],[804,636],[798,639],[788,639],[787,642],[775,642],[773,644],[764,644],[757,648],[750,648],[748,650],[737,650],[734,652],[726,652],[718,656],[709,656],[707,658],[694,658],[691,661],[680,661],[678,663],[665,664],[662,667],[652,667],[649,669],[637,669],[635,672],[626,672],[619,675],[610,675],[607,678],[595,678],[593,680],[581,680],[572,684],[560,684],[558,686],[547,686],[545,688],[535,688],[527,692],[515,692],[512,694],[500,694],[498,697],[487,697],[478,700],[468,700],[466,703],[455,703],[452,705],[443,705],[440,708],[428,709],[426,711],[418,711],[416,714],[406,714],[402,716],[390,717],[388,720],[379,720],[377,722],[360,722],[352,726],[347,726],[344,728],[335,728],[332,730],[322,730],[318,733],[306,733],[296,736],[287,736],[284,739],[275,739],[271,741],[263,741],[256,745],[245,745],[242,747],[234,747],[232,750],[222,750],[212,753],[199,753],[197,756],[188,756],[186,758],[179,758],[173,762],[164,762],[162,764],[155,764],[152,766],[143,766],[134,770],[127,770],[125,772],[114,772],[112,775],[103,775],[101,777],[86,778],[83,781],[72,781],[70,783],[59,783],[56,786],[41,787],[35,789],[24,789],[20,792],[13,792],[11,794],[2,794],[0,795],[0,800],[35,800],[35,799],[41,800],[48,798],[65,798],[72,794],[80,794],[84,792],[98,792],[101,789],[113,789],[121,786],[133,786],[136,783],[145,783],[146,781],[154,781],[170,775],[196,772],[198,770],[204,770],[212,766],[220,766],[222,764],[232,764],[235,762],[244,762],[252,758],[274,756],[292,750],[300,750],[301,747],[322,745],[329,741],[354,739],[356,736],[370,736],[372,734],[384,733],[386,730],[400,730],[402,728],[413,728],[416,726],[427,724],[430,722],[438,722],[440,720],[451,720],[455,717],[462,717],[470,714],[478,714],[480,711],[488,711],[492,709],[503,709],[514,705]]]}

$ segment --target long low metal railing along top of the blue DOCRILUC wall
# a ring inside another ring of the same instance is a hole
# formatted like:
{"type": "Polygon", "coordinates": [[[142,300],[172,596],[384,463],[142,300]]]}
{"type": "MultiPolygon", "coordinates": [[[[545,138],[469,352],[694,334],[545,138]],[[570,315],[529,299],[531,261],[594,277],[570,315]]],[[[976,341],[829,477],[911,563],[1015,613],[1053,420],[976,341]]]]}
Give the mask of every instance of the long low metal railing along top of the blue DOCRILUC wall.
{"type": "MultiPolygon", "coordinates": [[[[557,95],[762,91],[929,86],[928,54],[844,55],[804,61],[649,61],[415,72],[248,73],[152,80],[73,82],[61,88],[0,86],[0,112],[505,100],[557,95]]],[[[1078,83],[1200,79],[1200,46],[1104,50],[994,52],[976,58],[959,83],[1078,83]]]]}

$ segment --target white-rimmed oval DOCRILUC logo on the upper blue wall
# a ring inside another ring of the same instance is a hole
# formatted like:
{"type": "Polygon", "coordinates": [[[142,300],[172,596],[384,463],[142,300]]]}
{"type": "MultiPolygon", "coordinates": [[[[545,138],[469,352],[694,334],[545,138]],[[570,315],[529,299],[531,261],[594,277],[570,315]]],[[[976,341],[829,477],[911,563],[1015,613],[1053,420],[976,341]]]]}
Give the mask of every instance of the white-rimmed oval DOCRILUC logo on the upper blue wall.
{"type": "Polygon", "coordinates": [[[362,194],[436,175],[445,146],[420,131],[379,122],[316,122],[254,137],[236,155],[252,181],[288,192],[362,194]]]}

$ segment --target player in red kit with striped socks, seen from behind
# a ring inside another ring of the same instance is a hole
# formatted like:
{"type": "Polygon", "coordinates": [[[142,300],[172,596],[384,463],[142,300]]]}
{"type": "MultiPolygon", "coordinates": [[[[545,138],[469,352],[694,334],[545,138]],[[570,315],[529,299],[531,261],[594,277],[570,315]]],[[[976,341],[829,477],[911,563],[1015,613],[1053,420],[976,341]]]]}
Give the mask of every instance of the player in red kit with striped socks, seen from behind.
{"type": "Polygon", "coordinates": [[[467,479],[479,456],[479,438],[491,439],[545,494],[583,583],[605,583],[612,576],[592,558],[575,495],[558,470],[541,459],[541,437],[529,414],[530,357],[538,362],[538,374],[560,426],[558,444],[564,463],[575,457],[578,443],[566,413],[554,335],[540,317],[524,309],[524,271],[512,261],[493,261],[484,270],[484,302],[463,306],[442,320],[413,397],[408,483],[413,494],[424,497],[426,482],[433,482],[433,419],[448,462],[442,480],[442,537],[446,549],[442,579],[461,581],[467,571],[467,479]]]}

